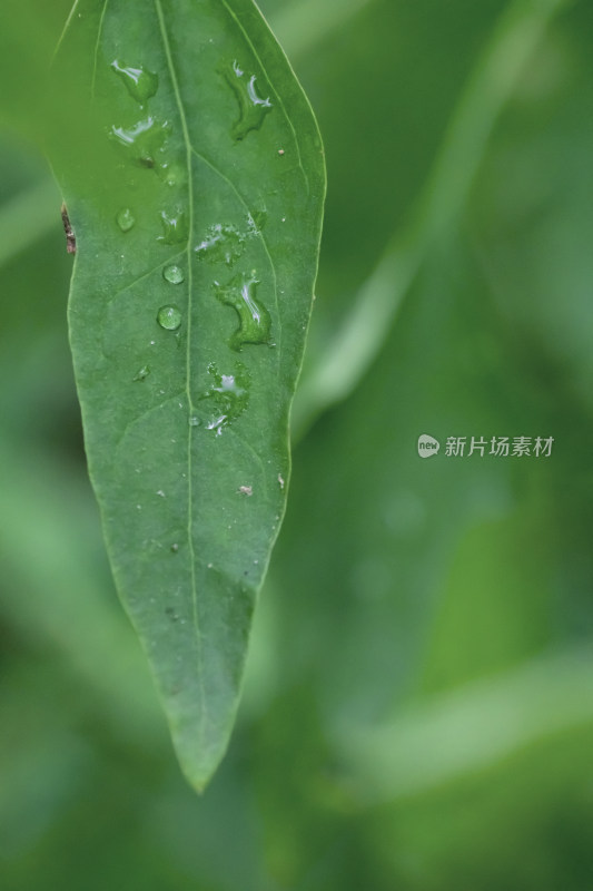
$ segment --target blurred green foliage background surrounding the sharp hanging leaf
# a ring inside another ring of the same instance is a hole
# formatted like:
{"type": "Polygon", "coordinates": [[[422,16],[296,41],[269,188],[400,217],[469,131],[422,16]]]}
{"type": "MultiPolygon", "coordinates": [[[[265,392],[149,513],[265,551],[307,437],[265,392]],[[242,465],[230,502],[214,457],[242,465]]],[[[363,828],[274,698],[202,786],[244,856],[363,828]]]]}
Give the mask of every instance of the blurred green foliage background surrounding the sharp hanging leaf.
{"type": "Polygon", "coordinates": [[[0,887],[586,891],[593,6],[263,7],[329,192],[288,515],[202,797],[86,476],[71,258],[36,141],[69,1],[4,9],[0,887]],[[552,453],[445,454],[504,435],[552,453]]]}

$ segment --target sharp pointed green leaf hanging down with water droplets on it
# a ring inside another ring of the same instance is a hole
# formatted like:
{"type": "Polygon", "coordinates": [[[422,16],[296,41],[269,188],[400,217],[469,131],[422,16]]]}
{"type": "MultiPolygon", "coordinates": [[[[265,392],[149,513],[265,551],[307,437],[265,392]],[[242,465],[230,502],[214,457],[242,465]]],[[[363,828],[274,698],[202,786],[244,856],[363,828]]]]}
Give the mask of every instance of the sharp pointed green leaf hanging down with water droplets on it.
{"type": "Polygon", "coordinates": [[[250,0],[81,0],[56,76],[92,109],[52,149],[77,243],[89,471],[120,596],[201,789],[285,510],[320,139],[250,0]]]}

